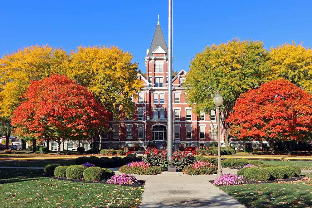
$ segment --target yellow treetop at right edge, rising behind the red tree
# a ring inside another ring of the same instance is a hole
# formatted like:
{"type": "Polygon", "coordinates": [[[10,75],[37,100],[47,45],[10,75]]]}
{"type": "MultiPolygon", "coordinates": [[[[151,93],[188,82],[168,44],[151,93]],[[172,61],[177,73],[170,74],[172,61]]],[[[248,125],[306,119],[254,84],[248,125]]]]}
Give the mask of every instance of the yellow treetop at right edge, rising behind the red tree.
{"type": "Polygon", "coordinates": [[[270,68],[268,74],[271,80],[284,78],[298,87],[312,93],[312,50],[297,45],[285,43],[270,50],[270,68]]]}

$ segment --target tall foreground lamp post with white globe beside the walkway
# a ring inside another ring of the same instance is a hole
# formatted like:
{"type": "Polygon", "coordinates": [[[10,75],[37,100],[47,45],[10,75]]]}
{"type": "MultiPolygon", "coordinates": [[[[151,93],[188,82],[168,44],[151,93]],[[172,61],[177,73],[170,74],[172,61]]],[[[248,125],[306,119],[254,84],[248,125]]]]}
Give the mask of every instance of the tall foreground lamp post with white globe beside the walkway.
{"type": "Polygon", "coordinates": [[[222,176],[222,169],[221,169],[221,137],[220,137],[220,107],[223,103],[223,98],[217,91],[216,95],[213,98],[213,103],[216,105],[217,110],[217,136],[218,136],[218,171],[217,176],[222,176]]]}

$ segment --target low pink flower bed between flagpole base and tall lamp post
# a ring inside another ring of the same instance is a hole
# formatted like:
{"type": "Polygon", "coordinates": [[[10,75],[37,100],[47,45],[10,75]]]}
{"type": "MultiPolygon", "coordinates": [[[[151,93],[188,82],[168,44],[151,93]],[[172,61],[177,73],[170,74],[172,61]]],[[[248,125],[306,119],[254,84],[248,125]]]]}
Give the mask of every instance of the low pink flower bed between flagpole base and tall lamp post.
{"type": "Polygon", "coordinates": [[[217,166],[209,163],[197,161],[192,165],[184,167],[182,172],[188,175],[209,175],[217,173],[217,166]]]}

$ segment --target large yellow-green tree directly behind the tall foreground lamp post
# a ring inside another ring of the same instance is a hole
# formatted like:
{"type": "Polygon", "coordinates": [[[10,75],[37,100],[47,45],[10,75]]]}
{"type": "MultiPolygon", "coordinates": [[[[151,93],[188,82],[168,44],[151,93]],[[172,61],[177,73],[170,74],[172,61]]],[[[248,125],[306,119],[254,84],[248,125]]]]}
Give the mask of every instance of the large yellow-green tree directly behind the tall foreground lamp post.
{"type": "Polygon", "coordinates": [[[230,123],[226,122],[236,99],[249,89],[264,82],[268,51],[263,42],[232,39],[220,45],[207,46],[191,61],[186,75],[187,102],[199,114],[215,109],[213,97],[217,90],[223,97],[220,122],[225,131],[228,148],[230,123]]]}

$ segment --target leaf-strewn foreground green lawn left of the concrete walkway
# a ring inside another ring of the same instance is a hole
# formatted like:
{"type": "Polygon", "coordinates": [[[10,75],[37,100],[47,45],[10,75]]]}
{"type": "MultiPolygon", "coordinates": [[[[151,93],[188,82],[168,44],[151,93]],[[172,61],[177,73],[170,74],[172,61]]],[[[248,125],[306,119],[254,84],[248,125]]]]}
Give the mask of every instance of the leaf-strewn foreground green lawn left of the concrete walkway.
{"type": "Polygon", "coordinates": [[[42,176],[42,170],[0,169],[1,207],[138,207],[143,187],[77,183],[42,176]]]}

